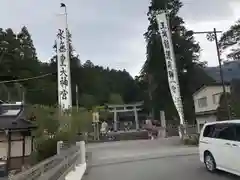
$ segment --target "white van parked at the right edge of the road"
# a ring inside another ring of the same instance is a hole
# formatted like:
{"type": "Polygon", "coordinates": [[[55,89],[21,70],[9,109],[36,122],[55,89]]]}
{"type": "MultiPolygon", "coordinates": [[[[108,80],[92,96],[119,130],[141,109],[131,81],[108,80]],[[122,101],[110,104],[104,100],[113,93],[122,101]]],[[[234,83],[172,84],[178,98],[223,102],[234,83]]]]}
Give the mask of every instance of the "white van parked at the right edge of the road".
{"type": "Polygon", "coordinates": [[[240,120],[206,123],[199,154],[208,171],[219,169],[240,176],[240,120]]]}

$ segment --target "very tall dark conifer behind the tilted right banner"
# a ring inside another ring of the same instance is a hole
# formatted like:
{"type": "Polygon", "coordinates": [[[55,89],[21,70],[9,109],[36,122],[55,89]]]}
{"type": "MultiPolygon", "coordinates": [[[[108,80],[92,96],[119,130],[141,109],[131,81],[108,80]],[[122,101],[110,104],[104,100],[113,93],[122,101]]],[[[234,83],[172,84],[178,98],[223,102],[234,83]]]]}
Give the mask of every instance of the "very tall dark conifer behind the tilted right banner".
{"type": "MultiPolygon", "coordinates": [[[[147,32],[144,34],[147,43],[147,57],[141,71],[140,79],[145,82],[144,86],[146,86],[149,75],[152,76],[151,84],[154,84],[156,87],[154,87],[154,91],[151,93],[152,102],[149,105],[154,107],[155,115],[159,114],[159,110],[165,110],[168,119],[176,116],[176,109],[173,105],[168,86],[165,56],[156,20],[156,14],[167,8],[170,11],[170,28],[184,104],[184,114],[188,121],[193,121],[195,113],[192,94],[199,87],[192,86],[192,83],[196,79],[194,79],[196,77],[195,69],[199,68],[198,66],[202,63],[199,62],[199,44],[194,40],[192,31],[188,31],[184,27],[183,19],[178,16],[182,5],[179,0],[151,0],[147,14],[149,26],[147,32]]],[[[201,77],[202,74],[198,74],[198,76],[201,77]]],[[[147,86],[150,88],[149,85],[147,86]]]]}

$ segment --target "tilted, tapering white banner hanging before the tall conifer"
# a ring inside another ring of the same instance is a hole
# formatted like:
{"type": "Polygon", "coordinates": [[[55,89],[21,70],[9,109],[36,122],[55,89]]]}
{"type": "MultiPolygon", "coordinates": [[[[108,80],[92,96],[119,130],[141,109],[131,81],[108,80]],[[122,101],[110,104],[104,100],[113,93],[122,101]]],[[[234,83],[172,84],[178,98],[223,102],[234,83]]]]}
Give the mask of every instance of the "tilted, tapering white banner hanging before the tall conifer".
{"type": "Polygon", "coordinates": [[[177,67],[175,61],[175,55],[172,44],[172,35],[168,25],[168,20],[166,13],[161,13],[157,15],[158,27],[162,39],[162,44],[164,48],[166,67],[168,73],[168,83],[172,94],[173,102],[176,106],[178,115],[180,117],[180,124],[184,124],[184,113],[182,98],[180,94],[180,87],[178,81],[177,67]]]}

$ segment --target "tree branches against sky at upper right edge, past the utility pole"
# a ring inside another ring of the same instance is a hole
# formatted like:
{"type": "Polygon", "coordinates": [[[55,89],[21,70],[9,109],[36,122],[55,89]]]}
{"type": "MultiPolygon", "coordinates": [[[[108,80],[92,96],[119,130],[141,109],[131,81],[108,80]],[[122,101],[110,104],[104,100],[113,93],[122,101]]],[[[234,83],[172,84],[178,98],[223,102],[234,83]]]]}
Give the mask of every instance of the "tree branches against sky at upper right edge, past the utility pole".
{"type": "Polygon", "coordinates": [[[232,60],[240,59],[240,20],[230,27],[229,30],[223,33],[219,46],[222,51],[230,49],[227,57],[232,60]]]}

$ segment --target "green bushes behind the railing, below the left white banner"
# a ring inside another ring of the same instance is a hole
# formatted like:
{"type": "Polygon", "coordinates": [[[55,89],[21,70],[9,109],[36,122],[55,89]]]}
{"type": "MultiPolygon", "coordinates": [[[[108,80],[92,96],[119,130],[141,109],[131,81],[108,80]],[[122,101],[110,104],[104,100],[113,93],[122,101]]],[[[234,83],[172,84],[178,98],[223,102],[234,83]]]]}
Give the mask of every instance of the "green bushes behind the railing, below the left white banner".
{"type": "Polygon", "coordinates": [[[53,106],[27,106],[26,117],[37,126],[34,132],[34,161],[41,161],[56,154],[57,141],[74,142],[79,133],[91,128],[92,113],[86,109],[73,108],[69,114],[61,114],[53,106]],[[35,118],[33,118],[33,116],[35,118]]]}

